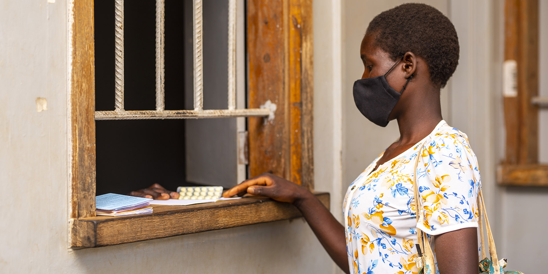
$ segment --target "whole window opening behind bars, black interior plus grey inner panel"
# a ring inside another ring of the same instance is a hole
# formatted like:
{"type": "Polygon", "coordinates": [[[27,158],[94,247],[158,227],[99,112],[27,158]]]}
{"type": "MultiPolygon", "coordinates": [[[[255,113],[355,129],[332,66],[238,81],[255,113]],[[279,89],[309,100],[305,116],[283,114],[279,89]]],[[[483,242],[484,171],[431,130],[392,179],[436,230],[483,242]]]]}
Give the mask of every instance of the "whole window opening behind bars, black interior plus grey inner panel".
{"type": "MultiPolygon", "coordinates": [[[[95,110],[114,110],[114,1],[95,1],[95,110]]],[[[204,1],[204,109],[227,105],[227,1],[204,1]]],[[[124,109],[155,110],[154,0],[124,5],[124,109]]],[[[165,109],[192,109],[192,2],[165,1],[165,109]]],[[[96,195],[236,183],[236,120],[96,121],[96,195]]]]}

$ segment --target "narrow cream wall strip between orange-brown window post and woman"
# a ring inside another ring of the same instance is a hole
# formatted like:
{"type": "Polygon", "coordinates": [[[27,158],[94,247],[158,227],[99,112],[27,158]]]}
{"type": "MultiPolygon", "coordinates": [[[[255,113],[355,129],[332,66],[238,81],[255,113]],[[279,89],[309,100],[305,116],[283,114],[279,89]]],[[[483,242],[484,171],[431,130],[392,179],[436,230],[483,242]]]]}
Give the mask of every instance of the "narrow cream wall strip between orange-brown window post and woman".
{"type": "MultiPolygon", "coordinates": [[[[314,188],[330,193],[331,212],[343,218],[341,32],[342,4],[338,0],[313,1],[314,24],[314,188]]],[[[319,273],[343,273],[335,263],[319,273]]],[[[295,273],[295,272],[292,272],[295,273]]],[[[310,273],[310,272],[303,272],[310,273]]]]}

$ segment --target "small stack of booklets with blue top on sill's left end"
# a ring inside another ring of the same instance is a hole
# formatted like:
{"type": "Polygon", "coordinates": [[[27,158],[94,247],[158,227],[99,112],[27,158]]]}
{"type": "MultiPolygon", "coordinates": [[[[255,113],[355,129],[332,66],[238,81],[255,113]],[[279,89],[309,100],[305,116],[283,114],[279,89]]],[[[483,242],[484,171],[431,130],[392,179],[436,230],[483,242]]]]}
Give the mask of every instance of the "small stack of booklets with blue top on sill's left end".
{"type": "Polygon", "coordinates": [[[152,213],[152,199],[140,198],[115,193],[95,196],[95,215],[123,216],[152,213]]]}

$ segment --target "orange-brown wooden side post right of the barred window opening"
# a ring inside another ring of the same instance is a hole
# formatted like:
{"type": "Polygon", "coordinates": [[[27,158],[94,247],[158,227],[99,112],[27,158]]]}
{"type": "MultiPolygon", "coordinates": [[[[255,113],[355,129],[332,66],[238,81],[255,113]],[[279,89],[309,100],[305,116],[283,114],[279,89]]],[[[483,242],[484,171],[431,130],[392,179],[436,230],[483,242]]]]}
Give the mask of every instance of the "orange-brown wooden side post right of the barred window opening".
{"type": "Polygon", "coordinates": [[[312,0],[250,0],[247,20],[249,107],[276,104],[274,119],[249,118],[250,175],[312,190],[312,0]]]}

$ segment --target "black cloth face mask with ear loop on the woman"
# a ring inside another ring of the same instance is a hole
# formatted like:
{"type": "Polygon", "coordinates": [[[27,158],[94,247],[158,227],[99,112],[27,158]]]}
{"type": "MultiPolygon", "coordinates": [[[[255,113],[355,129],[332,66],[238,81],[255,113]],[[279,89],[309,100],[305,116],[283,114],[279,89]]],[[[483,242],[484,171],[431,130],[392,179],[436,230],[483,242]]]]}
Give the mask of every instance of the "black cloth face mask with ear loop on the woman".
{"type": "Polygon", "coordinates": [[[381,127],[386,127],[388,124],[388,117],[394,106],[396,106],[399,96],[406,89],[409,80],[413,78],[413,75],[407,78],[407,82],[403,85],[401,92],[396,92],[386,81],[386,75],[402,59],[403,56],[384,75],[359,79],[354,82],[352,93],[359,112],[362,112],[363,116],[368,118],[369,121],[381,127]]]}

